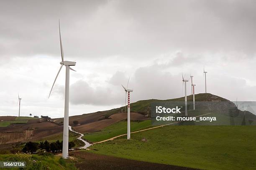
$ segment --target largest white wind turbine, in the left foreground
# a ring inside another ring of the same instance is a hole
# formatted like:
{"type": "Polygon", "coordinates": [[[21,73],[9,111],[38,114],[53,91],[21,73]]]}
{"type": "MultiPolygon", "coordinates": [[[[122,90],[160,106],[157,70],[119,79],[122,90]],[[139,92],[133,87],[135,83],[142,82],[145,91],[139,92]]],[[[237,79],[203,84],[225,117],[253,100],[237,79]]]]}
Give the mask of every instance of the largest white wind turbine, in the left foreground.
{"type": "MultiPolygon", "coordinates": [[[[62,157],[64,159],[67,159],[67,158],[69,158],[69,70],[73,70],[70,66],[76,65],[76,62],[64,61],[64,53],[63,53],[62,42],[61,42],[60,25],[59,25],[59,41],[60,41],[60,47],[61,47],[61,62],[60,62],[61,66],[56,75],[54,83],[59,75],[59,72],[60,72],[62,66],[65,65],[66,66],[66,83],[65,83],[65,107],[64,107],[62,157]]],[[[73,70],[73,71],[75,71],[75,70],[73,70]]],[[[54,87],[54,83],[51,87],[51,90],[54,87]]],[[[51,91],[50,91],[49,97],[50,97],[50,95],[51,95],[51,91]]]]}

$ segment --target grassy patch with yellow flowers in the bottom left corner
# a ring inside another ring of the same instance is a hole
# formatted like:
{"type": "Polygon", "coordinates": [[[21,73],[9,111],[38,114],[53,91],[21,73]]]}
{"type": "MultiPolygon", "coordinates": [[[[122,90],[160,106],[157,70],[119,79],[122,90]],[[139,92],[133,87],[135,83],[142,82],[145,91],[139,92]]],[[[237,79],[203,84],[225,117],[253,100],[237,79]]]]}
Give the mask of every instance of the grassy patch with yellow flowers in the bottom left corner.
{"type": "MultiPolygon", "coordinates": [[[[25,161],[23,170],[77,170],[72,160],[63,160],[60,156],[30,155],[25,153],[0,155],[0,161],[25,161]]],[[[18,170],[19,168],[1,168],[1,170],[18,170]]]]}

